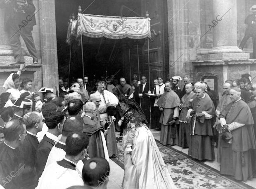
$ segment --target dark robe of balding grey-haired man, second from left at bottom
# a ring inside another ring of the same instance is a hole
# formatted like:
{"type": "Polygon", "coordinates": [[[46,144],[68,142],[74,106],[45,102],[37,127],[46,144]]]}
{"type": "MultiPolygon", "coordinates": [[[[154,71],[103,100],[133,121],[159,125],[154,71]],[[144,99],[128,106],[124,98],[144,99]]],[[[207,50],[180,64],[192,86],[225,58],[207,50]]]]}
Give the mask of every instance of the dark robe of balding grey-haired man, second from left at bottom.
{"type": "Polygon", "coordinates": [[[38,184],[36,172],[36,149],[38,147],[36,136],[27,134],[22,145],[19,146],[21,157],[24,159],[24,174],[22,174],[21,186],[27,189],[34,189],[38,184]]]}

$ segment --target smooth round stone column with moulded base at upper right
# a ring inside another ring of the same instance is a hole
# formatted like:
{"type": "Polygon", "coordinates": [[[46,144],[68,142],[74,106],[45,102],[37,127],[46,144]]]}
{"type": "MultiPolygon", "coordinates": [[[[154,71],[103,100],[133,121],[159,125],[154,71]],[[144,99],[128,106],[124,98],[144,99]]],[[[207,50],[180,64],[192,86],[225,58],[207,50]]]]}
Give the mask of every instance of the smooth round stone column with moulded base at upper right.
{"type": "Polygon", "coordinates": [[[213,48],[203,60],[248,59],[237,47],[237,0],[213,0],[213,48]]]}

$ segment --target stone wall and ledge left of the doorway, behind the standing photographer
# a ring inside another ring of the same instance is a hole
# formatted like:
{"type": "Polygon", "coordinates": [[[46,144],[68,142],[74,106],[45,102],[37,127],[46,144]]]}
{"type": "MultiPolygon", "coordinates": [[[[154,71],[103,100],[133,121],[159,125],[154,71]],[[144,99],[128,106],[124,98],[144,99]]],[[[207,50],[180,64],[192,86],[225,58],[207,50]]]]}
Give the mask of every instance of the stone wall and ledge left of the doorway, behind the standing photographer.
{"type": "MultiPolygon", "coordinates": [[[[54,0],[33,0],[36,7],[36,22],[33,27],[33,38],[38,51],[39,65],[33,65],[33,59],[30,57],[24,41],[21,38],[21,46],[25,55],[25,71],[21,78],[31,78],[33,80],[32,90],[36,92],[46,86],[54,88],[58,84],[58,62],[57,62],[57,42],[56,42],[56,24],[55,24],[55,1],[54,0]]],[[[0,9],[0,16],[4,18],[4,9],[0,9]]],[[[11,66],[9,63],[15,62],[12,49],[4,32],[4,20],[0,21],[0,86],[12,72],[16,72],[19,66],[11,66]]],[[[3,92],[2,87],[0,93],[3,92]]]]}

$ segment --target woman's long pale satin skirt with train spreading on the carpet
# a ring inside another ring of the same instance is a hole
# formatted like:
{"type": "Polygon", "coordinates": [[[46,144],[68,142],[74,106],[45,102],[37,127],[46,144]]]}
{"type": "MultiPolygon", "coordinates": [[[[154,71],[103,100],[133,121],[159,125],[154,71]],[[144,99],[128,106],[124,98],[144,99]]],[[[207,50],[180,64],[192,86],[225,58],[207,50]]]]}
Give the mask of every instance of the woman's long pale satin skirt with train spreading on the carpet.
{"type": "Polygon", "coordinates": [[[133,151],[126,152],[124,146],[124,189],[176,189],[167,166],[156,145],[154,136],[146,124],[137,127],[133,138],[133,151]],[[133,161],[133,163],[132,163],[133,161]]]}

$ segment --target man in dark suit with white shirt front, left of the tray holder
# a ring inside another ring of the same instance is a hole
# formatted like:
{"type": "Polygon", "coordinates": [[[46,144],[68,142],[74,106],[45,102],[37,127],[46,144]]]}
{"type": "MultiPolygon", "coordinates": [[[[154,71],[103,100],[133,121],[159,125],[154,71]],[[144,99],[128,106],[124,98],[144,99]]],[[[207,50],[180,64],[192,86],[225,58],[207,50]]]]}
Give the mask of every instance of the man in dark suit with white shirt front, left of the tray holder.
{"type": "Polygon", "coordinates": [[[138,87],[138,95],[140,97],[140,104],[141,104],[141,108],[143,110],[143,112],[146,115],[147,118],[147,122],[149,122],[150,117],[149,117],[149,97],[147,95],[145,95],[145,93],[148,93],[149,91],[149,83],[147,83],[147,78],[145,76],[141,77],[141,83],[142,85],[140,85],[138,87]]]}

